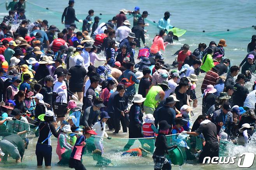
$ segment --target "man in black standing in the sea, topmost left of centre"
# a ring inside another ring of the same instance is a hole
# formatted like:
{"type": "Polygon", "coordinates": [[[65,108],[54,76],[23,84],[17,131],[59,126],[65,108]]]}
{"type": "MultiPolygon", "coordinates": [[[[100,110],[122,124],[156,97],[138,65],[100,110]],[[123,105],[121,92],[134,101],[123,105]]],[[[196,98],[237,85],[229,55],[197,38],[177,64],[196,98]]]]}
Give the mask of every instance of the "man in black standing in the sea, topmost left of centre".
{"type": "Polygon", "coordinates": [[[65,27],[68,28],[71,24],[74,24],[75,21],[82,23],[82,20],[78,20],[75,16],[75,9],[73,8],[75,4],[74,0],[68,1],[68,7],[66,7],[61,16],[61,23],[65,24],[65,27]],[[65,17],[65,22],[63,21],[65,17]]]}

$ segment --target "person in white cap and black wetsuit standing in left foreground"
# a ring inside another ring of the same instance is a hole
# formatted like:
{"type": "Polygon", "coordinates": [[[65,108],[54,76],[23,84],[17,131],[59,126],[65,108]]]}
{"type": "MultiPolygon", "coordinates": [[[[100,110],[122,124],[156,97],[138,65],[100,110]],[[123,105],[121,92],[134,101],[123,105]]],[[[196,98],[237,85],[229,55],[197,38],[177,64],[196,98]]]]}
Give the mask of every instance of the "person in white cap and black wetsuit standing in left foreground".
{"type": "MultiPolygon", "coordinates": [[[[59,129],[57,132],[54,128],[54,125],[52,124],[53,116],[54,113],[51,110],[47,110],[44,116],[44,121],[39,124],[39,138],[35,148],[38,168],[42,168],[43,160],[45,162],[46,168],[51,168],[53,148],[51,146],[51,137],[49,137],[49,134],[53,134],[54,137],[58,137],[60,133],[63,132],[61,129],[59,129]]],[[[61,128],[63,127],[64,124],[61,125],[61,128]]]]}

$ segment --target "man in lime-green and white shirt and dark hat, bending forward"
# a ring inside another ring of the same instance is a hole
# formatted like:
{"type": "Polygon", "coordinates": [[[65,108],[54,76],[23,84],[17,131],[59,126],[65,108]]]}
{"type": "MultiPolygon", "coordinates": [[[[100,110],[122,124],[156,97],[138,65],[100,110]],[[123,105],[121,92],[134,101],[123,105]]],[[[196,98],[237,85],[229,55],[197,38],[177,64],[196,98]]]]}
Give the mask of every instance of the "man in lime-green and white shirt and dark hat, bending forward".
{"type": "Polygon", "coordinates": [[[146,114],[153,114],[156,105],[159,101],[162,101],[165,97],[165,91],[168,89],[168,82],[163,81],[157,86],[152,86],[146,95],[146,100],[144,101],[144,111],[146,114]]]}

